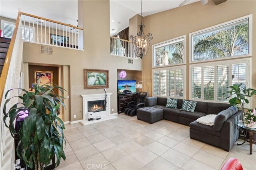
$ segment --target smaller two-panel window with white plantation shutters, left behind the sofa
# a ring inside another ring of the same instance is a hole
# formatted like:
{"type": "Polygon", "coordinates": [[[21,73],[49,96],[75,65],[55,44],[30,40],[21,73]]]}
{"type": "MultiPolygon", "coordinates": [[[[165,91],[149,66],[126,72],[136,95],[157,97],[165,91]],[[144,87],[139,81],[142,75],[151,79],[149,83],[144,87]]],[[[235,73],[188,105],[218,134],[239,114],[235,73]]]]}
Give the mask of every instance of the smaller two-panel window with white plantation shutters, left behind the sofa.
{"type": "Polygon", "coordinates": [[[168,97],[185,97],[186,67],[168,67],[153,69],[153,95],[168,97]]]}

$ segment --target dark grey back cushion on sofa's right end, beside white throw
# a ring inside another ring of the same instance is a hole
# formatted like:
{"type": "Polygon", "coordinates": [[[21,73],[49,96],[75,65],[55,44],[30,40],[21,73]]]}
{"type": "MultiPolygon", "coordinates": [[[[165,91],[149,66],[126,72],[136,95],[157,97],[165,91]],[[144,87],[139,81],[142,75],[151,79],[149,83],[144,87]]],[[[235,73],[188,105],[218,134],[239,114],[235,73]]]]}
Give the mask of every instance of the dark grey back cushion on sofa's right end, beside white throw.
{"type": "Polygon", "coordinates": [[[228,109],[221,111],[215,118],[213,128],[220,132],[224,122],[238,111],[237,107],[230,106],[228,109]]]}

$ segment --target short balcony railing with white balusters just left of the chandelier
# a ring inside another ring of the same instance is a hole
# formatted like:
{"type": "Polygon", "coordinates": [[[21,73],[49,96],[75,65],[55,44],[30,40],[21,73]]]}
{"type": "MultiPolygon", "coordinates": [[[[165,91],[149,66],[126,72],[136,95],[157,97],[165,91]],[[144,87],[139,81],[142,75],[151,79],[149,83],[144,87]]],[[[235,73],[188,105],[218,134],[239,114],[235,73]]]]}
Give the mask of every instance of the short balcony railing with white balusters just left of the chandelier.
{"type": "Polygon", "coordinates": [[[132,42],[116,37],[110,37],[110,55],[137,59],[132,42]]]}

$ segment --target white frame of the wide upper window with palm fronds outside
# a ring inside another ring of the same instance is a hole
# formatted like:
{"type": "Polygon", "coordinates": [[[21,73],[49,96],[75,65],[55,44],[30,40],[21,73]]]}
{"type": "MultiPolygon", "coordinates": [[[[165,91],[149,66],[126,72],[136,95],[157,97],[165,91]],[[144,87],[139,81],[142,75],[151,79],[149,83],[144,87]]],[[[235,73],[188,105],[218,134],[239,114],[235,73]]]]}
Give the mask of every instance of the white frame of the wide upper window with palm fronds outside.
{"type": "Polygon", "coordinates": [[[208,62],[208,61],[218,61],[223,59],[237,59],[241,57],[249,57],[252,56],[252,14],[243,16],[240,18],[237,18],[235,20],[231,20],[228,22],[224,22],[222,24],[218,24],[212,27],[208,27],[196,32],[192,32],[189,34],[189,63],[202,63],[202,62],[208,62]],[[222,58],[216,58],[216,59],[207,59],[207,60],[200,60],[200,61],[192,61],[192,55],[194,54],[194,48],[193,48],[193,37],[198,36],[200,34],[206,34],[207,32],[213,32],[214,30],[219,30],[221,28],[226,28],[228,25],[232,25],[234,22],[239,22],[240,20],[244,20],[248,18],[248,54],[244,55],[235,55],[230,57],[222,57],[222,58]]]}

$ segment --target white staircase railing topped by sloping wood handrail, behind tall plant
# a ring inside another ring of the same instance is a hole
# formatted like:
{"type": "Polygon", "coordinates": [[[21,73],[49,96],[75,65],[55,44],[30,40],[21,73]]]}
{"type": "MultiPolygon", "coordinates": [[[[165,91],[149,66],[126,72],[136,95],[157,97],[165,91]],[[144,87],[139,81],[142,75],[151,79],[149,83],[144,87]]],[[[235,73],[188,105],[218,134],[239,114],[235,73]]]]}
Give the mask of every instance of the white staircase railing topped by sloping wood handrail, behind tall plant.
{"type": "MultiPolygon", "coordinates": [[[[14,138],[12,138],[10,131],[4,125],[3,121],[3,107],[6,99],[17,96],[18,90],[12,90],[8,96],[4,97],[9,89],[19,87],[20,83],[20,71],[22,64],[22,51],[23,40],[21,35],[21,12],[18,14],[16,20],[14,34],[10,42],[6,60],[4,63],[3,71],[0,77],[0,169],[9,170],[14,168],[14,138]]],[[[9,110],[12,105],[18,102],[17,98],[10,100],[6,109],[9,110]]],[[[7,119],[8,122],[10,119],[7,119]]]]}

